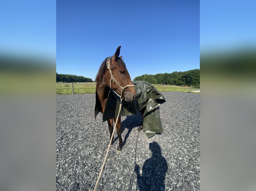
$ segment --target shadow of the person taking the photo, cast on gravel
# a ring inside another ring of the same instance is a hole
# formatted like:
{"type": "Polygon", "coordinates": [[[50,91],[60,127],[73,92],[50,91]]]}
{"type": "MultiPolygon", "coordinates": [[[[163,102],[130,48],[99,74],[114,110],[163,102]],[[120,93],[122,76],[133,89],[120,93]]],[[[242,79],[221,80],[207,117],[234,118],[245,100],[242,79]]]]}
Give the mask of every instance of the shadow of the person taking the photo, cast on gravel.
{"type": "Polygon", "coordinates": [[[161,147],[157,142],[149,143],[149,149],[152,152],[152,157],[144,162],[142,174],[139,172],[139,165],[135,164],[137,187],[140,191],[163,191],[165,189],[165,174],[168,170],[167,162],[162,156],[161,147]]]}

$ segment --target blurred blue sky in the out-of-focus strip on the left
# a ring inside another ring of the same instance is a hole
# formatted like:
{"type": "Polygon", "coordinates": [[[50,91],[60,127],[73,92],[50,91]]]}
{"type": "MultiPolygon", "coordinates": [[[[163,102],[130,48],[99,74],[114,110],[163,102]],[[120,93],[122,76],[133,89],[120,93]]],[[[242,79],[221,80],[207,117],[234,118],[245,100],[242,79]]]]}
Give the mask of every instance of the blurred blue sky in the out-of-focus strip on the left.
{"type": "Polygon", "coordinates": [[[1,1],[0,17],[1,55],[55,60],[54,1],[1,1]]]}

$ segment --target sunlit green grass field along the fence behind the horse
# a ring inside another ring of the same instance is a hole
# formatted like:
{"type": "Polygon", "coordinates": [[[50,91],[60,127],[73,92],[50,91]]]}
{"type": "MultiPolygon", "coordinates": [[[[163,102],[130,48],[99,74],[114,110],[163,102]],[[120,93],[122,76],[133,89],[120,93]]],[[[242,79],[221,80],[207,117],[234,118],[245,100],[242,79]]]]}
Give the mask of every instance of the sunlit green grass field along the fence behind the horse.
{"type": "MultiPolygon", "coordinates": [[[[154,85],[160,92],[190,92],[189,86],[154,85]]],[[[94,94],[96,83],[73,83],[74,94],[94,94]]],[[[192,87],[192,90],[199,90],[199,87],[192,87]]],[[[191,92],[199,94],[200,92],[191,92]]],[[[56,83],[56,94],[72,94],[71,83],[56,83]]]]}

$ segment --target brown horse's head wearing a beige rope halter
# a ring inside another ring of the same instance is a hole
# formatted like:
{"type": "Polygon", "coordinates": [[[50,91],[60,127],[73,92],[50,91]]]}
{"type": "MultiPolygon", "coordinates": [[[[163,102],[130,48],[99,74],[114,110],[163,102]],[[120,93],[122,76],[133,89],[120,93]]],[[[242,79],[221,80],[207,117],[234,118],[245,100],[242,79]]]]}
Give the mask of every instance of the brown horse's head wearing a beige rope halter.
{"type": "Polygon", "coordinates": [[[122,56],[120,54],[119,46],[116,49],[114,56],[107,59],[107,68],[109,72],[106,73],[106,85],[114,90],[115,93],[124,97],[125,101],[134,101],[135,99],[135,88],[132,84],[131,77],[122,56]]]}

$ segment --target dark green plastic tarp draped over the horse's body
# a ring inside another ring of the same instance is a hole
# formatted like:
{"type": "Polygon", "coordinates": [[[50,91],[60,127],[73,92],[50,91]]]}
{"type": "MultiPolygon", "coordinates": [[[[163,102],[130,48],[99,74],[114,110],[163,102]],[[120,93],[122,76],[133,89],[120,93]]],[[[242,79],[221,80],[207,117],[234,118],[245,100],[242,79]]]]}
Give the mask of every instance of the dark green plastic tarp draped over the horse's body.
{"type": "MultiPolygon", "coordinates": [[[[150,83],[144,81],[133,81],[136,91],[134,102],[122,101],[121,116],[136,115],[145,107],[143,118],[143,131],[150,138],[155,133],[163,133],[162,123],[160,120],[159,105],[165,102],[165,97],[150,83]]],[[[97,95],[96,95],[97,99],[97,95]]],[[[118,115],[120,98],[111,90],[103,114],[103,121],[115,118],[118,115]]],[[[97,101],[95,105],[95,117],[99,109],[97,101]]]]}

